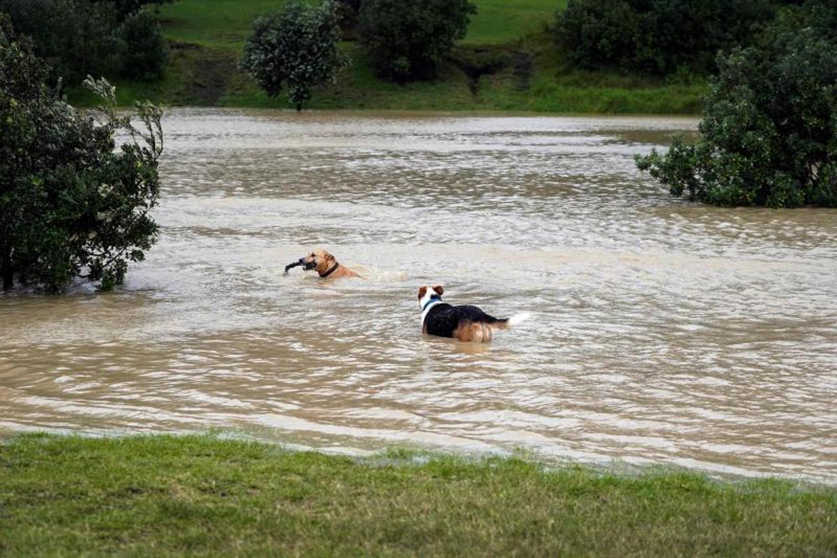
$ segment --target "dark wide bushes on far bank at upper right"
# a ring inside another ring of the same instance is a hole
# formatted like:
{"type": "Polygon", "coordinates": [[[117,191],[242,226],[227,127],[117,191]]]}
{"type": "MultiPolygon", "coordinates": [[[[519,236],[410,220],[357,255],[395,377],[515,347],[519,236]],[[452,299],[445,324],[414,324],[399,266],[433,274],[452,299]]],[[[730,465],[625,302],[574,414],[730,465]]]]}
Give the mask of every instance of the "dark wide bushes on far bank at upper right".
{"type": "Polygon", "coordinates": [[[555,39],[582,68],[703,73],[772,18],[769,0],[570,0],[555,39]]]}

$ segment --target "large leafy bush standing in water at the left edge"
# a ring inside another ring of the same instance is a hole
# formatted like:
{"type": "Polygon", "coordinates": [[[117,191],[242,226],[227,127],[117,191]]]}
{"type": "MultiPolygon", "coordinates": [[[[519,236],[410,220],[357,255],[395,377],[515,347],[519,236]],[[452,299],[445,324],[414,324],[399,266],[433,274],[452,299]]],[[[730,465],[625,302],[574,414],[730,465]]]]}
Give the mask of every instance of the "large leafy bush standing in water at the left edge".
{"type": "Polygon", "coordinates": [[[142,129],[115,110],[115,90],[86,85],[103,99],[98,119],[75,110],[46,81],[49,67],[15,38],[0,15],[0,277],[58,292],[75,277],[111,289],[128,262],[157,238],[162,111],[136,105],[142,129]],[[130,141],[115,151],[114,136],[130,141]]]}

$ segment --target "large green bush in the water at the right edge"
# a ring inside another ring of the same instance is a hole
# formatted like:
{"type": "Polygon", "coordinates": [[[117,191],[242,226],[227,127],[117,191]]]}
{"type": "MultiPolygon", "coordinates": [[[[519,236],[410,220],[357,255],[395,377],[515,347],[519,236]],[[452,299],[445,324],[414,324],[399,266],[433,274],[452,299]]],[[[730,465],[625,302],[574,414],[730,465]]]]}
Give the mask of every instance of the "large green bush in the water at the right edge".
{"type": "Polygon", "coordinates": [[[671,193],[718,205],[837,206],[837,43],[773,33],[719,61],[701,140],[637,157],[671,193]]]}

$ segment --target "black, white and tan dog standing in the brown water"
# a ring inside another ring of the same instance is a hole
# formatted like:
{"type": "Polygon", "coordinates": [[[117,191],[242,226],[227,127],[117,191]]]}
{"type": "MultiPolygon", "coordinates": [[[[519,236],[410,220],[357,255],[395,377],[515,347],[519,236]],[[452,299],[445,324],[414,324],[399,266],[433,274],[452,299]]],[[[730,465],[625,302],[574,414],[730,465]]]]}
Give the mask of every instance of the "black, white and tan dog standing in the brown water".
{"type": "Polygon", "coordinates": [[[444,289],[441,285],[432,289],[419,287],[422,333],[485,343],[491,340],[492,332],[508,330],[529,317],[527,313],[522,313],[511,318],[495,318],[476,306],[452,306],[442,302],[442,294],[444,289]]]}

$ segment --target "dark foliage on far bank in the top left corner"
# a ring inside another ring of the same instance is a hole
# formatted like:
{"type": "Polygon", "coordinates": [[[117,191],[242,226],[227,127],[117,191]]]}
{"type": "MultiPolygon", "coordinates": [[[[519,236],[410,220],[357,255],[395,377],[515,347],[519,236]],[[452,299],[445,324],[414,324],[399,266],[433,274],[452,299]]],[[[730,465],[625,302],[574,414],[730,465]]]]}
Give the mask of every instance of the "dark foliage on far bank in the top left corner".
{"type": "Polygon", "coordinates": [[[156,79],[166,62],[156,16],[141,0],[0,0],[18,31],[33,39],[35,54],[68,84],[87,75],[156,79]],[[130,9],[129,9],[130,8],[130,9]]]}

